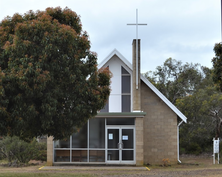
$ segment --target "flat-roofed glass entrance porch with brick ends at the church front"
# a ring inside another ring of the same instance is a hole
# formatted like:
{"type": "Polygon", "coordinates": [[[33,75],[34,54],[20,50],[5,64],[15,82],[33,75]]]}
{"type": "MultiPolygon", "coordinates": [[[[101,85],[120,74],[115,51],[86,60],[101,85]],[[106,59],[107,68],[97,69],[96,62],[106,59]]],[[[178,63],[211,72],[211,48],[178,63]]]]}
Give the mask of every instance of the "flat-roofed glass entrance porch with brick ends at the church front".
{"type": "Polygon", "coordinates": [[[66,140],[49,137],[47,164],[143,165],[145,113],[126,114],[99,113],[66,140]]]}

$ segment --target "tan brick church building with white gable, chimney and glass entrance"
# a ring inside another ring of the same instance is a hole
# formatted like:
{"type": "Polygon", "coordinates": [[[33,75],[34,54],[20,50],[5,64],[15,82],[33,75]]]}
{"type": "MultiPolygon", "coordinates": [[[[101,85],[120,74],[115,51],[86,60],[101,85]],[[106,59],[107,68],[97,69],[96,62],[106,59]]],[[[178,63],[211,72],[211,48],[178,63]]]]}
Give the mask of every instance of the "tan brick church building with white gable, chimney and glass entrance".
{"type": "Polygon", "coordinates": [[[116,49],[99,64],[113,74],[106,106],[67,141],[48,137],[48,165],[180,162],[179,126],[187,118],[140,73],[136,41],[132,64],[116,49]]]}

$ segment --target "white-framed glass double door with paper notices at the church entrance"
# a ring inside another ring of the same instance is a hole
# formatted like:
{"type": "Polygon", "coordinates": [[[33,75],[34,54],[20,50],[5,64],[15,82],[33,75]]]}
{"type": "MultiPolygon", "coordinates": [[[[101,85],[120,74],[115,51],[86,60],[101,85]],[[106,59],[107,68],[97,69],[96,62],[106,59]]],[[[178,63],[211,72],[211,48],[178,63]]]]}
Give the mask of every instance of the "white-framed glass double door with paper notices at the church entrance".
{"type": "Polygon", "coordinates": [[[106,160],[108,163],[133,164],[135,162],[135,138],[132,127],[107,127],[106,160]]]}

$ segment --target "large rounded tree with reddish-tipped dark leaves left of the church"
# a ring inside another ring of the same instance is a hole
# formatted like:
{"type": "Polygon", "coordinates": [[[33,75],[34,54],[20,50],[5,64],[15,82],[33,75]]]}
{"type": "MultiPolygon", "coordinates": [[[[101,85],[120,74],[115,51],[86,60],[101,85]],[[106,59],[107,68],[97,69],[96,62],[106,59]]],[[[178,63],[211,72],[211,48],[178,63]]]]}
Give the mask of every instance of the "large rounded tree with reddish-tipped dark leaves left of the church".
{"type": "Polygon", "coordinates": [[[88,34],[69,8],[0,22],[0,134],[63,139],[104,107],[108,69],[97,70],[88,34]]]}

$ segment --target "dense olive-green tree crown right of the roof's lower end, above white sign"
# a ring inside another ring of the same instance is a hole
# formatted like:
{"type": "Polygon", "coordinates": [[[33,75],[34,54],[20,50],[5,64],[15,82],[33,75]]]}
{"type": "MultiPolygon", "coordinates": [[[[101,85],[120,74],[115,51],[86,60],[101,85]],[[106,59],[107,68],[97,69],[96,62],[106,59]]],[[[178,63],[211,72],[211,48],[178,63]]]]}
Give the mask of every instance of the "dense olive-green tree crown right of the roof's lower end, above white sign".
{"type": "Polygon", "coordinates": [[[215,87],[199,89],[193,95],[178,99],[176,106],[188,117],[188,124],[183,128],[188,128],[189,137],[202,141],[220,137],[222,94],[215,87]]]}

